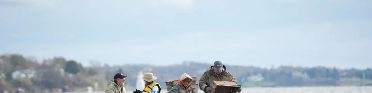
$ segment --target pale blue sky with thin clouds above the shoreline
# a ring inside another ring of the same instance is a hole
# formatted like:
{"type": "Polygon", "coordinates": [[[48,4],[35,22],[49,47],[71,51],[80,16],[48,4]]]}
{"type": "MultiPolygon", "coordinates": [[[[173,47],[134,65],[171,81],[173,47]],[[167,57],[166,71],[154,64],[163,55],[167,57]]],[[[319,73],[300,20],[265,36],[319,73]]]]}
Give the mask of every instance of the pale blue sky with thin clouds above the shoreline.
{"type": "Polygon", "coordinates": [[[0,0],[0,53],[89,66],[372,67],[371,0],[0,0]]]}

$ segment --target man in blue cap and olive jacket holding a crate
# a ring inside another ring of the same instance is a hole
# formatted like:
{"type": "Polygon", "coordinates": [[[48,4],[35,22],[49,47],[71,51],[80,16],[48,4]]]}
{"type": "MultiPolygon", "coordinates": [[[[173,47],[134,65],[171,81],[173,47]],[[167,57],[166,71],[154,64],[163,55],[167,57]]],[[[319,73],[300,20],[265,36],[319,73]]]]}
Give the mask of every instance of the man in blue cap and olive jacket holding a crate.
{"type": "MultiPolygon", "coordinates": [[[[200,90],[203,90],[204,93],[211,93],[211,88],[209,87],[210,84],[213,83],[213,81],[231,81],[236,82],[235,77],[226,71],[225,65],[222,64],[221,61],[215,61],[214,65],[211,66],[210,70],[207,70],[204,72],[202,77],[200,77],[199,80],[199,88],[200,90]]],[[[241,92],[241,86],[237,90],[239,93],[241,92]]]]}

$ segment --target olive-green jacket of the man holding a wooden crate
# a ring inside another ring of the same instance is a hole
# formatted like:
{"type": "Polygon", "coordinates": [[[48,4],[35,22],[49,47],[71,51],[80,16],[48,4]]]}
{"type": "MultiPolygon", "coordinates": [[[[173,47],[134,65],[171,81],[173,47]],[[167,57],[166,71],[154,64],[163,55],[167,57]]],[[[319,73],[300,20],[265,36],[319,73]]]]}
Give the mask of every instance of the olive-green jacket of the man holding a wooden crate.
{"type": "MultiPolygon", "coordinates": [[[[204,88],[206,86],[209,87],[210,86],[209,84],[212,84],[213,80],[215,80],[215,81],[232,81],[232,82],[238,83],[236,81],[235,77],[231,73],[226,71],[225,65],[222,65],[222,68],[224,68],[224,70],[222,70],[222,73],[219,74],[219,75],[217,75],[214,72],[213,66],[211,66],[210,70],[205,71],[204,74],[202,75],[202,77],[200,77],[199,88],[204,91],[204,88]]],[[[211,87],[209,87],[209,88],[211,88],[211,87]]],[[[240,90],[241,90],[241,87],[240,87],[240,90]]]]}

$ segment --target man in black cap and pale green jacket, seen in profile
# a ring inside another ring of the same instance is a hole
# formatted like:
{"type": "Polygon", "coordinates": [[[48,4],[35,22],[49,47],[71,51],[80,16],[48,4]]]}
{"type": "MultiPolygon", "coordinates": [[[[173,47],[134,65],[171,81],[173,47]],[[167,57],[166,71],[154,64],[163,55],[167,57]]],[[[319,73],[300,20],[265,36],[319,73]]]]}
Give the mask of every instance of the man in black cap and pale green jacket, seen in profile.
{"type": "Polygon", "coordinates": [[[105,93],[125,93],[125,77],[121,73],[116,73],[113,78],[114,80],[109,80],[105,93]]]}

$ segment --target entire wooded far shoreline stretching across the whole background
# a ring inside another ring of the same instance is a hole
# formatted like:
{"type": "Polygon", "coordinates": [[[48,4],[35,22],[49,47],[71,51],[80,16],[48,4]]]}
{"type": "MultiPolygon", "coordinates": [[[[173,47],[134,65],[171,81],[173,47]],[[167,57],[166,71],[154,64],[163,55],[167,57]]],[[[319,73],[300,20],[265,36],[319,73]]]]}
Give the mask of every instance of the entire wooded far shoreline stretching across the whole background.
{"type": "MultiPolygon", "coordinates": [[[[228,65],[224,62],[227,71],[232,73],[239,84],[249,87],[253,83],[248,78],[261,76],[260,82],[267,82],[260,86],[339,86],[342,78],[361,78],[372,80],[371,68],[367,69],[337,69],[336,67],[294,67],[280,66],[278,68],[260,68],[254,66],[228,65]],[[306,75],[308,77],[306,77],[306,75]],[[248,82],[248,83],[247,83],[248,82]]],[[[99,87],[95,90],[106,89],[108,79],[112,79],[115,73],[123,73],[128,76],[125,86],[130,90],[135,86],[138,71],[151,72],[158,79],[156,82],[166,86],[164,82],[180,79],[183,73],[187,73],[198,80],[204,71],[209,70],[211,63],[183,62],[167,66],[154,66],[151,64],[126,64],[109,66],[100,65],[100,62],[92,67],[84,67],[74,60],[66,60],[63,57],[54,57],[42,62],[34,58],[25,58],[22,55],[0,56],[0,90],[15,90],[23,88],[29,92],[76,92],[85,91],[88,86],[99,87]],[[57,90],[56,90],[57,89],[57,90]],[[85,90],[82,90],[85,89],[85,90]]],[[[197,81],[198,81],[197,80],[197,81]]]]}

